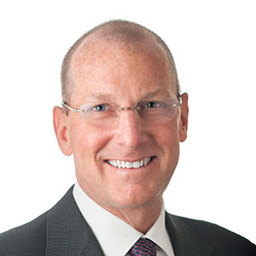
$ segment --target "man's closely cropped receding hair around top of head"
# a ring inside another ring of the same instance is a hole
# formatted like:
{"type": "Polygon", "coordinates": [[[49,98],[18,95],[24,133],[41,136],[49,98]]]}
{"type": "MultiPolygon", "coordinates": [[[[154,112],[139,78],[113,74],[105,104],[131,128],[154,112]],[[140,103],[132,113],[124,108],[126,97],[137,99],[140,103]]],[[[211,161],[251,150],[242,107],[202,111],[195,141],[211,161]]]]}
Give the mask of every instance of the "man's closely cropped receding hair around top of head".
{"type": "MultiPolygon", "coordinates": [[[[62,62],[61,67],[61,92],[62,100],[67,102],[70,99],[73,79],[72,79],[72,68],[71,63],[73,61],[73,56],[79,52],[79,49],[84,48],[84,45],[90,42],[90,38],[95,38],[99,41],[101,40],[114,40],[114,41],[123,41],[125,43],[138,44],[147,40],[148,42],[155,42],[162,48],[166,54],[166,57],[170,63],[172,70],[172,80],[175,86],[177,96],[180,93],[180,87],[177,79],[177,70],[175,63],[172,58],[172,53],[166,43],[154,32],[141,26],[135,22],[127,20],[110,20],[105,23],[102,23],[89,32],[84,33],[84,35],[79,38],[73,46],[67,51],[67,55],[62,62]]],[[[96,42],[96,40],[92,40],[96,42]]]]}

